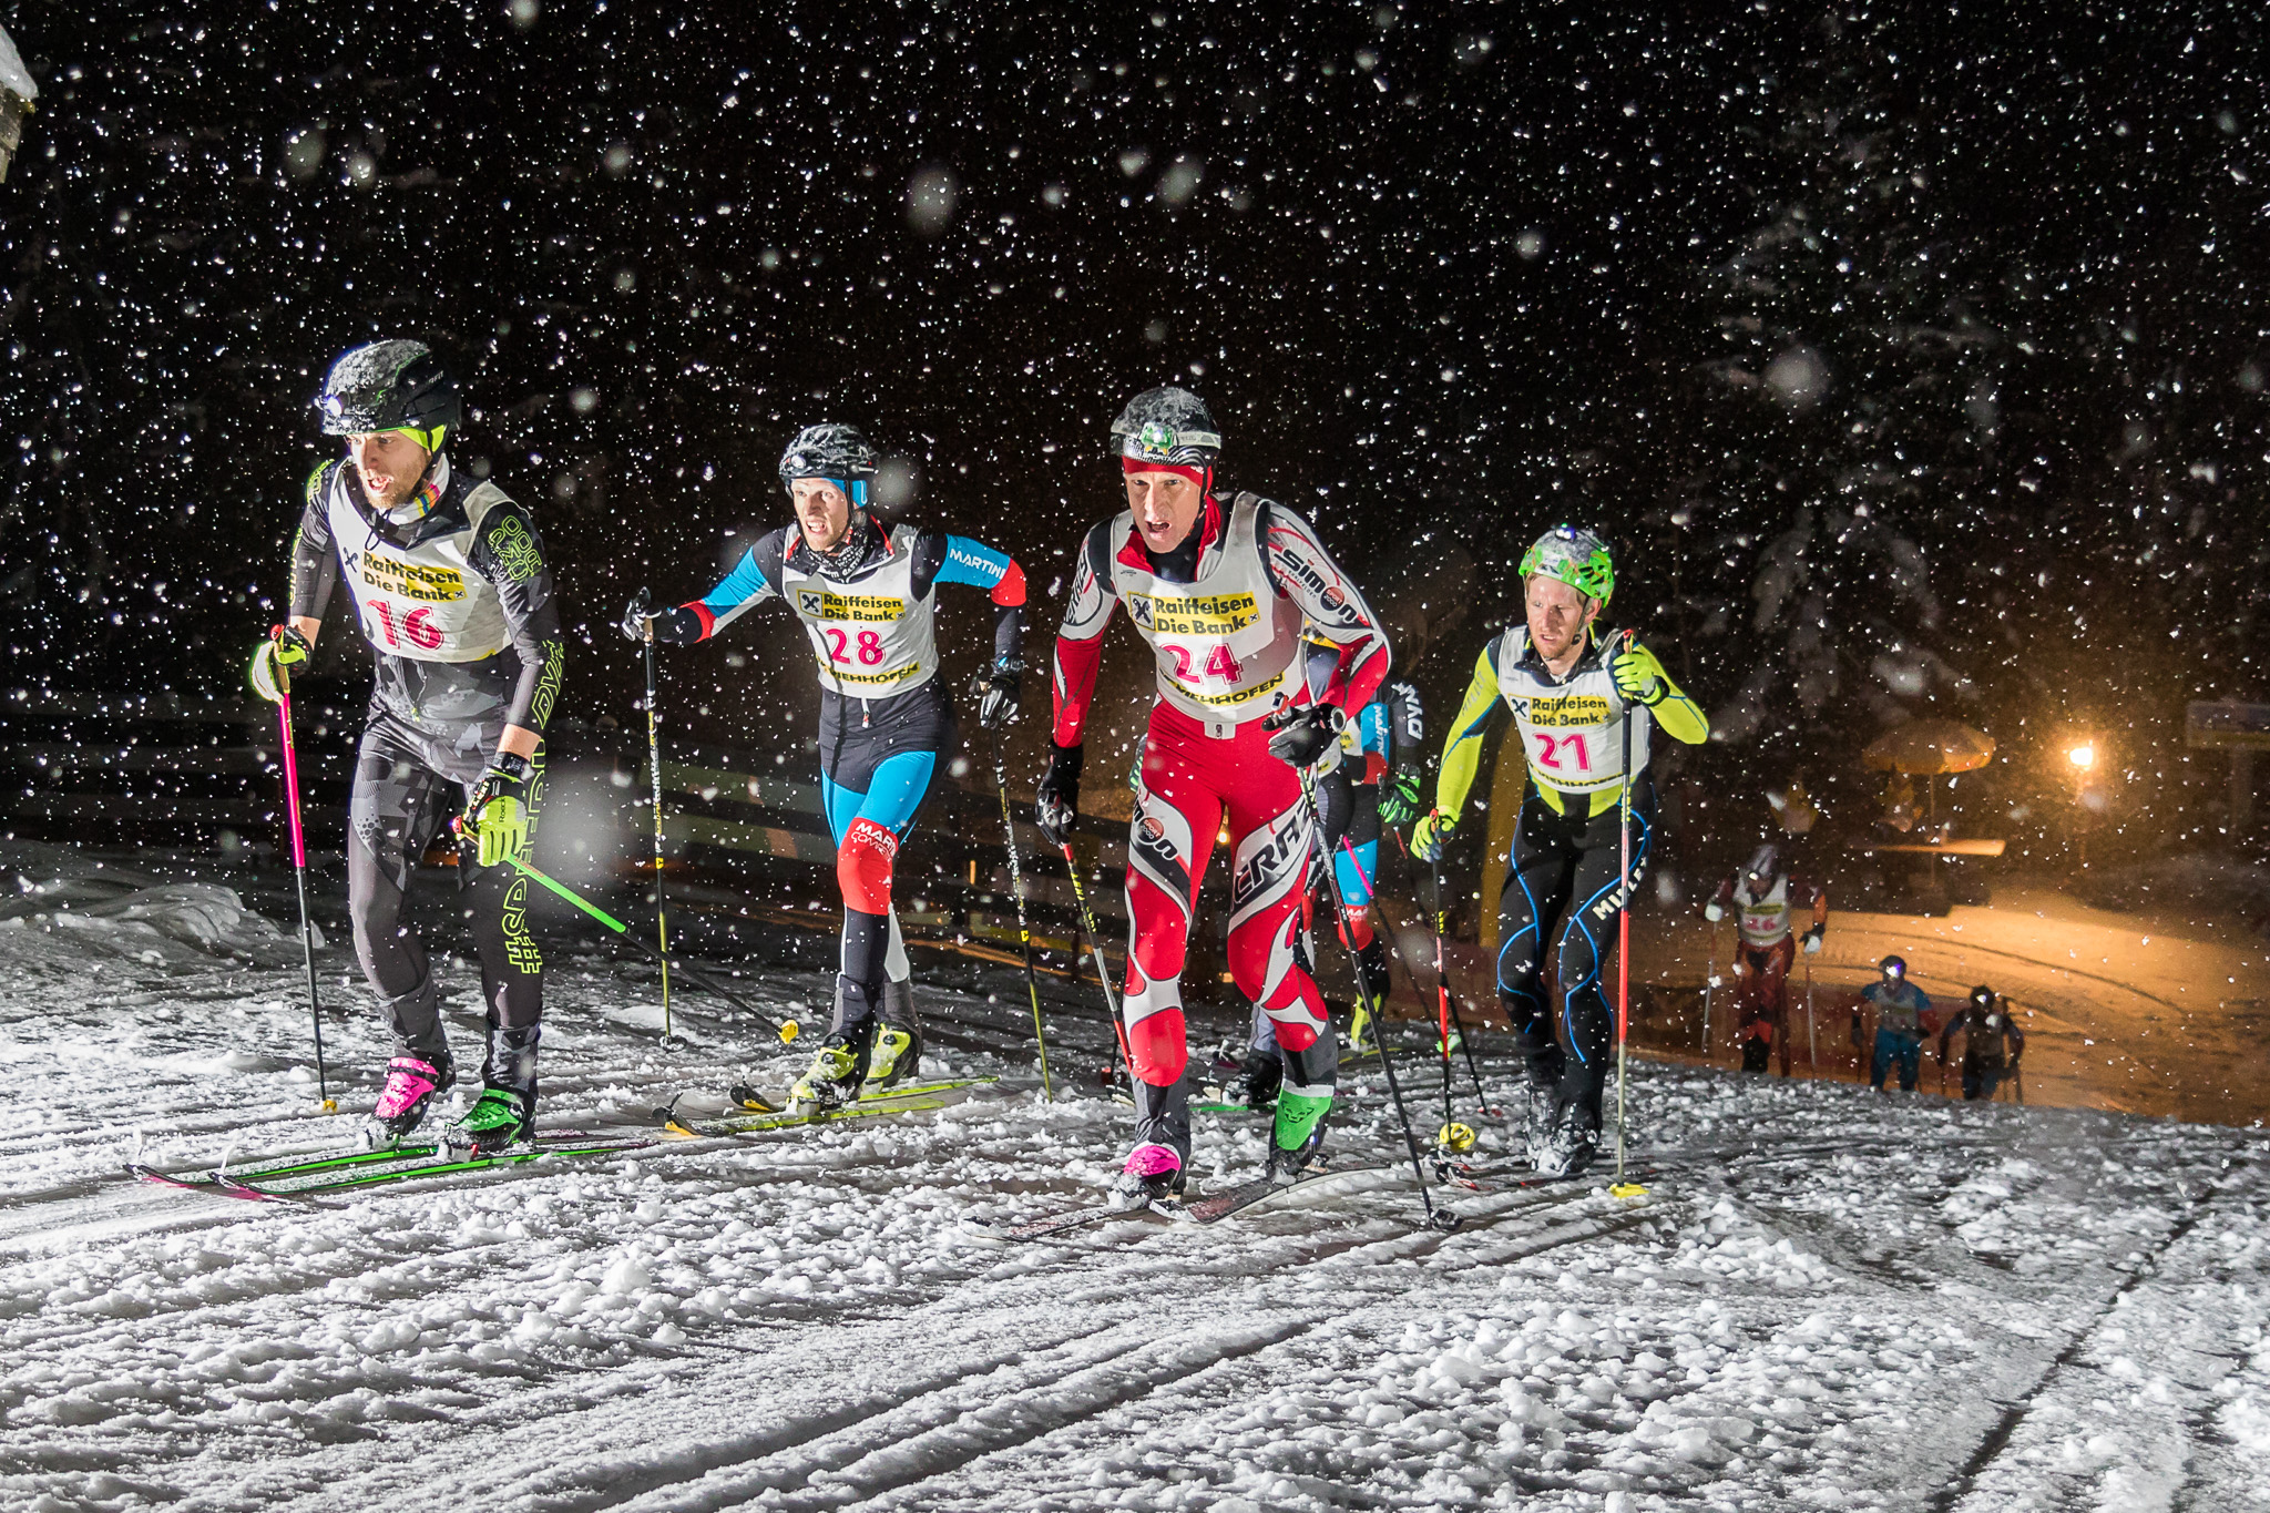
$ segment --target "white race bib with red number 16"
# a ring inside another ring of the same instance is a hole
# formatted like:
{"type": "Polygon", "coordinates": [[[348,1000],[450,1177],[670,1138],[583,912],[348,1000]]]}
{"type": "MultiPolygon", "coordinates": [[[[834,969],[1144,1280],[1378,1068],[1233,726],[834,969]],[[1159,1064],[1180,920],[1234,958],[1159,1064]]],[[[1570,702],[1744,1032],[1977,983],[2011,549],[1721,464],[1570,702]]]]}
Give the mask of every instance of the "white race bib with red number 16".
{"type": "Polygon", "coordinates": [[[340,576],[372,646],[413,662],[481,662],[504,651],[497,588],[468,563],[481,522],[506,504],[502,488],[477,483],[465,495],[465,529],[415,547],[395,547],[370,529],[347,497],[345,470],[334,472],[329,490],[325,513],[340,576]]]}

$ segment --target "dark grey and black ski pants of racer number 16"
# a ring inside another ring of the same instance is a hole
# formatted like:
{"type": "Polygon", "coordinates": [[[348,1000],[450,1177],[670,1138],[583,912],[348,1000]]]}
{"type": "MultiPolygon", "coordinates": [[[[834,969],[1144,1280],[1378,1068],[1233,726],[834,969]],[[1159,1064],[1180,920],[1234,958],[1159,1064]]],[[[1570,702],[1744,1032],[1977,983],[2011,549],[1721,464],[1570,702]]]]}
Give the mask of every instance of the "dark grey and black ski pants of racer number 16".
{"type": "MultiPolygon", "coordinates": [[[[440,987],[424,941],[402,919],[411,869],[465,808],[497,749],[495,724],[434,730],[372,708],[354,753],[347,798],[347,914],[354,955],[379,991],[397,1055],[443,1064],[440,987]]],[[[529,785],[529,837],[543,803],[543,749],[529,785]]],[[[490,1028],[536,1025],[545,1009],[545,960],[529,935],[529,880],[508,864],[474,867],[472,844],[459,848],[459,898],[481,957],[481,1000],[490,1028]]]]}

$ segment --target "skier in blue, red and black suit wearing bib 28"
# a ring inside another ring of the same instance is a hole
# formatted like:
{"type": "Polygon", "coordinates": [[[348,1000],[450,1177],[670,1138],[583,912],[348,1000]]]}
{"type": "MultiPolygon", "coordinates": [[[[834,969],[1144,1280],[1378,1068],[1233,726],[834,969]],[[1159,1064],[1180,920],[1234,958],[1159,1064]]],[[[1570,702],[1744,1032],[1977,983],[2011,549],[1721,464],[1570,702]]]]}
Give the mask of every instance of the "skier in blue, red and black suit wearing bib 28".
{"type": "Polygon", "coordinates": [[[1017,712],[1024,685],[1019,610],[1024,569],[965,535],[883,526],[867,506],[876,451],[851,426],[806,426],[781,454],[794,524],[772,531],[701,599],[651,608],[640,590],[622,633],[701,642],[742,612],[779,599],[804,622],[819,662],[819,794],[835,835],[842,889],[842,969],[835,1014],[797,1105],[851,1102],[922,1064],[910,964],[890,903],[892,860],[931,792],[940,758],[960,746],[953,696],[938,681],[935,588],[987,590],[994,606],[992,671],[978,724],[1017,712]]]}

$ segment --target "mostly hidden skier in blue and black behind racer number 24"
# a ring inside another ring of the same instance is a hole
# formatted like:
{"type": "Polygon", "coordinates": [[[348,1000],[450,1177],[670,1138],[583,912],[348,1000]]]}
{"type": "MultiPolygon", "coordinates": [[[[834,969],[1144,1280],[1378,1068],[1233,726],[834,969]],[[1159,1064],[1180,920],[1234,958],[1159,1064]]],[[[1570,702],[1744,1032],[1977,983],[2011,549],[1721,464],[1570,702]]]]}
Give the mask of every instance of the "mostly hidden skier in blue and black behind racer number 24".
{"type": "MultiPolygon", "coordinates": [[[[1339,667],[1339,646],[1317,637],[1308,644],[1310,696],[1323,696],[1339,667]]],[[[1346,914],[1339,939],[1355,953],[1362,994],[1348,1025],[1348,1048],[1364,1050],[1371,1016],[1364,1000],[1387,1003],[1387,944],[1371,925],[1371,894],[1380,873],[1380,832],[1412,823],[1419,817],[1426,719],[1419,712],[1419,690],[1403,678],[1380,685],[1378,699],[1339,733],[1339,764],[1317,778],[1317,810],[1323,835],[1319,846],[1332,857],[1346,914]]],[[[1237,1075],[1226,1089],[1228,1102],[1260,1109],[1276,1100],[1285,1082],[1285,1053],[1276,1028],[1258,1005],[1237,1075]]]]}

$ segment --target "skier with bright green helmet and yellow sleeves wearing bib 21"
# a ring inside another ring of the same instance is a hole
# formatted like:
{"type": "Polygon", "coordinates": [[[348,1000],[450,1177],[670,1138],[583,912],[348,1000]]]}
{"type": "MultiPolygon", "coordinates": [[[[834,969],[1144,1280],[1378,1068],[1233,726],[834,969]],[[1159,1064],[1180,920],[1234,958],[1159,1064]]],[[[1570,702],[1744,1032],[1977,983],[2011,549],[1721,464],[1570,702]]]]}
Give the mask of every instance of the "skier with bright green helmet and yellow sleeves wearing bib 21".
{"type": "Polygon", "coordinates": [[[1655,842],[1648,746],[1657,724],[1673,739],[1709,737],[1693,699],[1639,642],[1598,628],[1616,588],[1607,544],[1557,526],[1521,558],[1525,626],[1482,646],[1466,701],[1451,721],[1435,778],[1435,812],[1412,832],[1412,855],[1441,857],[1482,762],[1496,705],[1512,708],[1530,792],[1514,821],[1512,867],[1498,896],[1498,998],[1530,1073],[1530,1159],[1564,1177],[1600,1143],[1600,1089],[1616,1043],[1616,1014],[1600,991],[1605,941],[1630,901],[1655,842]],[[1621,721],[1632,721],[1632,771],[1623,771],[1621,721]],[[1625,780],[1632,787],[1632,876],[1619,887],[1625,780]],[[1562,991],[1559,1028],[1544,996],[1546,953],[1562,991]]]}

